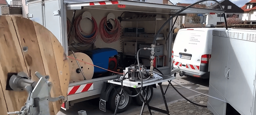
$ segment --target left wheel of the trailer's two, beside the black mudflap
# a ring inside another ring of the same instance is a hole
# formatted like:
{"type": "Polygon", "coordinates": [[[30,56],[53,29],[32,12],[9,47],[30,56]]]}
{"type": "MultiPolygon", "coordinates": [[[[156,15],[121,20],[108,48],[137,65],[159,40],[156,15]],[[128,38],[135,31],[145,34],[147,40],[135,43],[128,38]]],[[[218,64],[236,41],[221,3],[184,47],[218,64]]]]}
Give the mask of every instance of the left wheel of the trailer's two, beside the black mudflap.
{"type": "MultiPolygon", "coordinates": [[[[127,87],[124,87],[124,90],[129,95],[132,94],[131,91],[127,87]]],[[[118,91],[120,93],[121,87],[116,87],[116,91],[118,91]]],[[[116,91],[114,89],[111,91],[111,93],[109,95],[109,100],[108,100],[109,108],[113,112],[115,112],[115,110],[116,110],[117,99],[119,97],[119,95],[117,94],[116,91]]],[[[132,102],[132,98],[123,92],[122,98],[120,98],[119,107],[117,108],[117,113],[121,113],[121,112],[124,112],[125,110],[127,110],[128,107],[130,106],[131,102],[132,102]]]]}

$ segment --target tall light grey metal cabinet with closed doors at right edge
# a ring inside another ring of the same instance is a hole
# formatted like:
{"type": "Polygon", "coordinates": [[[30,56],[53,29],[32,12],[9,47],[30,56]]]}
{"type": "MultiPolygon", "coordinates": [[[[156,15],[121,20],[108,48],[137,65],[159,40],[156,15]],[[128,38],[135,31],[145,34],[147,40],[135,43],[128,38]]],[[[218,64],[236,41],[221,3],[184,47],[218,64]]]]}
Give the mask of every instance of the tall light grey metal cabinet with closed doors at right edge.
{"type": "Polygon", "coordinates": [[[255,115],[256,30],[233,28],[212,32],[207,107],[214,115],[255,115]]]}

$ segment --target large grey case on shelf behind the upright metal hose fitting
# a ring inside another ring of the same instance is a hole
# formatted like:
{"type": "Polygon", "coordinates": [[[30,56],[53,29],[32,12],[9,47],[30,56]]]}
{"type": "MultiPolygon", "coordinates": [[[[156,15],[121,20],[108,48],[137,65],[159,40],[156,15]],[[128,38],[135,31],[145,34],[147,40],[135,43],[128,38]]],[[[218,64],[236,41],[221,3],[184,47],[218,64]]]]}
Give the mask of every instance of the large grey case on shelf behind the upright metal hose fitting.
{"type": "MultiPolygon", "coordinates": [[[[140,44],[140,48],[151,48],[151,44],[140,44]]],[[[151,50],[141,50],[139,56],[143,58],[148,58],[150,56],[151,50]]],[[[155,47],[155,56],[164,55],[164,45],[156,45],[155,47]]]]}

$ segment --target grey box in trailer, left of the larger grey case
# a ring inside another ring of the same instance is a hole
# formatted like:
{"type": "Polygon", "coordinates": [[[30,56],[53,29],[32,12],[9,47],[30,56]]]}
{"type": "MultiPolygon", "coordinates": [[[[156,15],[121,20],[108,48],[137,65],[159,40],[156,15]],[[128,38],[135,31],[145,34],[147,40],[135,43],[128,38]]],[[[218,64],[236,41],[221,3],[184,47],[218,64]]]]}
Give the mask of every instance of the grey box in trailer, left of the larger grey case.
{"type": "Polygon", "coordinates": [[[139,50],[139,44],[145,44],[145,42],[136,41],[124,41],[124,52],[126,55],[134,56],[139,50]]]}

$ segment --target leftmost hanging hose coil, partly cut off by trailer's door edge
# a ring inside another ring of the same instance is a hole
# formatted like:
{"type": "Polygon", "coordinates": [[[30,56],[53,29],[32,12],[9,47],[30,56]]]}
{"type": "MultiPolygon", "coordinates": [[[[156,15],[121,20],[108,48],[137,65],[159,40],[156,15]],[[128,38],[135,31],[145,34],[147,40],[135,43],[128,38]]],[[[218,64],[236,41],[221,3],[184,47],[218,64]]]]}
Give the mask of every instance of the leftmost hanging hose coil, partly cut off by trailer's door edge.
{"type": "Polygon", "coordinates": [[[74,25],[72,26],[72,28],[71,28],[70,26],[71,26],[71,22],[70,22],[70,20],[67,18],[68,45],[70,45],[70,44],[73,42],[74,37],[75,37],[75,28],[74,28],[74,25]]]}

